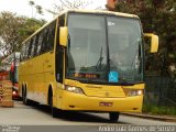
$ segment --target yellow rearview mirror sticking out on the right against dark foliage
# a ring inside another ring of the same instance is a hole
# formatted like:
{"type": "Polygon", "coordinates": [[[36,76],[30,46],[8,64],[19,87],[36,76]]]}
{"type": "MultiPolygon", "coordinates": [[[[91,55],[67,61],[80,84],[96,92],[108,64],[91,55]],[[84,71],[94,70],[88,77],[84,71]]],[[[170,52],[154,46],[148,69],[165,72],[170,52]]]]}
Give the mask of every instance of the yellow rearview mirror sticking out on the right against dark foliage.
{"type": "Polygon", "coordinates": [[[158,51],[158,36],[152,33],[145,33],[144,37],[150,38],[151,53],[156,53],[158,51]]]}

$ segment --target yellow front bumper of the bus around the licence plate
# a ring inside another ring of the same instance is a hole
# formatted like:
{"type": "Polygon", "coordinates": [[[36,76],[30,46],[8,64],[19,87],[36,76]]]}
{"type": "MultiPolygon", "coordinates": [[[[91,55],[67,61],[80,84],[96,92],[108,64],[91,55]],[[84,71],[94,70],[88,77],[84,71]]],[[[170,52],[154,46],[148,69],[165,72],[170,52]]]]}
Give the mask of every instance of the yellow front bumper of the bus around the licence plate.
{"type": "Polygon", "coordinates": [[[99,111],[99,112],[141,112],[143,96],[124,98],[99,98],[64,91],[62,110],[99,111]],[[110,102],[111,107],[100,106],[100,102],[110,102]]]}

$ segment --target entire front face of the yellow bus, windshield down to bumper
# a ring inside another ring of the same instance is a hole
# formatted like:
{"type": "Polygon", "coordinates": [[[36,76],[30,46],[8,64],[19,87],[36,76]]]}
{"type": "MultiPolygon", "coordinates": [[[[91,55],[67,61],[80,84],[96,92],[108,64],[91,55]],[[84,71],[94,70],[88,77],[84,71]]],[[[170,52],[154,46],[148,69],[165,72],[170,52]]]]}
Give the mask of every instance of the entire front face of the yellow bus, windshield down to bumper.
{"type": "Polygon", "coordinates": [[[138,18],[68,13],[63,110],[134,111],[143,102],[143,38],[138,18]]]}

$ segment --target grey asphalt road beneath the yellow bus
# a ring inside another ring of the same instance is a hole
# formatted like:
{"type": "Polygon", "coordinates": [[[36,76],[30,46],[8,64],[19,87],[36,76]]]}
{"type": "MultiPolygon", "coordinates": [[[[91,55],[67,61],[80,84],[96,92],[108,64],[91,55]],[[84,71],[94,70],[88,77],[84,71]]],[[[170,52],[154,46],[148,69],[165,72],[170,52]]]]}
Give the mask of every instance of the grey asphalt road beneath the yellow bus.
{"type": "MultiPolygon", "coordinates": [[[[69,130],[80,132],[100,131],[101,127],[122,127],[122,125],[175,125],[175,122],[164,122],[148,119],[141,119],[135,117],[120,116],[119,122],[110,123],[107,113],[89,113],[89,112],[74,112],[70,116],[59,118],[52,118],[51,110],[46,106],[24,106],[21,101],[15,101],[14,108],[0,108],[0,125],[50,125],[61,127],[61,130],[67,132],[69,130]],[[66,127],[65,127],[66,125],[66,127]],[[76,128],[75,128],[76,127],[76,128]]],[[[25,127],[24,129],[26,129],[25,127]]],[[[57,130],[58,128],[56,128],[57,130]]],[[[114,128],[111,128],[114,129],[114,128]]],[[[118,128],[119,129],[119,128],[118,128]]],[[[1,130],[1,129],[0,129],[1,130]]],[[[29,129],[26,129],[29,130],[29,129]]],[[[50,129],[51,131],[52,129],[50,129]]],[[[31,129],[29,130],[29,132],[31,129]]],[[[105,131],[102,129],[102,131],[105,131]]],[[[176,130],[175,130],[176,131],[176,130]]],[[[44,132],[44,131],[43,131],[44,132]]],[[[52,131],[51,131],[52,132],[52,131]]],[[[62,131],[63,132],[63,131],[62,131]]]]}

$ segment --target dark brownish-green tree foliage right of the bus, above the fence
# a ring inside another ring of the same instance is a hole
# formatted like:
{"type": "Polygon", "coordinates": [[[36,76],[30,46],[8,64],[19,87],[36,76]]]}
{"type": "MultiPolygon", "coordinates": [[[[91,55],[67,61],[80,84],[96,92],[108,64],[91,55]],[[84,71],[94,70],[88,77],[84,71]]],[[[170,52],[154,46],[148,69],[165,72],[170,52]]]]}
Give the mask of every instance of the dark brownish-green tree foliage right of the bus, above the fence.
{"type": "MultiPolygon", "coordinates": [[[[118,0],[116,11],[138,14],[144,32],[158,35],[160,52],[158,54],[150,55],[150,57],[152,59],[160,58],[161,65],[156,73],[168,75],[168,72],[163,70],[169,70],[170,66],[176,67],[176,1],[118,0]]],[[[176,70],[174,69],[173,72],[175,73],[176,70]]]]}

